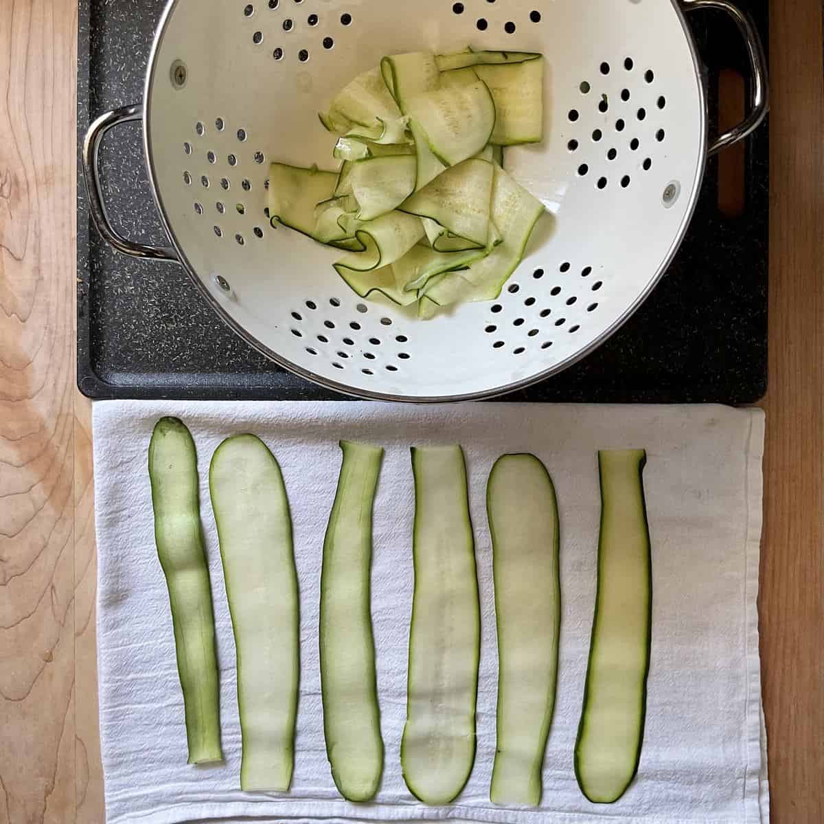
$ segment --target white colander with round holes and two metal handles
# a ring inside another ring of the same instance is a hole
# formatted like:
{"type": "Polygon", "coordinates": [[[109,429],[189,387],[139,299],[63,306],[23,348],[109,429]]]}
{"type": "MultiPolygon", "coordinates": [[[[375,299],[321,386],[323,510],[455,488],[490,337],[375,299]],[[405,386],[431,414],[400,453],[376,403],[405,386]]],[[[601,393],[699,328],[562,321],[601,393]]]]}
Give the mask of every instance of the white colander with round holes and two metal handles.
{"type": "Polygon", "coordinates": [[[766,109],[756,30],[727,0],[171,0],[143,105],[98,119],[84,162],[106,240],[179,261],[284,368],[355,396],[475,399],[549,377],[615,332],[681,243],[708,154],[766,109]],[[709,150],[683,15],[700,8],[733,16],[753,73],[750,114],[709,150]],[[331,161],[317,112],[382,56],[467,45],[545,55],[545,141],[508,148],[506,167],[550,215],[498,301],[419,321],[354,294],[332,268],[339,252],[269,226],[265,185],[269,162],[331,161]],[[169,248],[119,236],[103,206],[101,139],[138,119],[169,248]]]}

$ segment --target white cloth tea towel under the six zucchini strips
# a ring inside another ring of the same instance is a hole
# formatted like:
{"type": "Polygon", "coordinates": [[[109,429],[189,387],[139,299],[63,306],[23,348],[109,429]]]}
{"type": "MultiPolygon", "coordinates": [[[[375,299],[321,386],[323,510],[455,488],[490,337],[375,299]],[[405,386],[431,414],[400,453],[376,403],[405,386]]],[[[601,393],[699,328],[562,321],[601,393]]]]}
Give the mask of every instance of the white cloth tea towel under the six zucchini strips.
{"type": "Polygon", "coordinates": [[[466,820],[489,824],[761,824],[767,817],[756,593],[761,534],[761,412],[722,407],[412,407],[343,403],[108,402],[95,405],[98,658],[107,820],[310,822],[466,820]],[[186,765],[183,699],[166,582],[154,545],[147,449],[163,415],[198,448],[201,515],[212,576],[225,763],[186,765]],[[235,645],[208,495],[222,438],[251,432],[283,468],[301,592],[301,696],[289,794],[241,793],[235,645]],[[321,550],[340,438],[386,447],[375,504],[372,622],[386,744],[374,803],[342,800],[326,761],[318,672],[321,550]],[[400,772],[412,605],[414,492],[409,447],[466,451],[482,601],[478,751],[456,802],[427,807],[400,772]],[[596,584],[597,449],[645,447],[653,541],[653,647],[639,773],[624,798],[589,803],[573,751],[596,584]],[[534,452],[557,489],[563,623],[555,719],[537,810],[489,803],[497,652],[485,486],[504,452],[534,452]]]}

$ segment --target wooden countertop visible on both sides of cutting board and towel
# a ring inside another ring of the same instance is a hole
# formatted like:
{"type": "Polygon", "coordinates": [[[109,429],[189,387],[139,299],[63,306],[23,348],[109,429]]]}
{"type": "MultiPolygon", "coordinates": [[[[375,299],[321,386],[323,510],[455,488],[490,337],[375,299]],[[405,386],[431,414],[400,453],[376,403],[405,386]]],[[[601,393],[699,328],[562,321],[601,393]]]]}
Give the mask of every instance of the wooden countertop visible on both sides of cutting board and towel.
{"type": "MultiPolygon", "coordinates": [[[[761,653],[776,824],[824,822],[821,0],[771,3],[761,653]]],[[[0,824],[104,820],[90,406],[75,388],[76,0],[0,3],[0,824]]]]}

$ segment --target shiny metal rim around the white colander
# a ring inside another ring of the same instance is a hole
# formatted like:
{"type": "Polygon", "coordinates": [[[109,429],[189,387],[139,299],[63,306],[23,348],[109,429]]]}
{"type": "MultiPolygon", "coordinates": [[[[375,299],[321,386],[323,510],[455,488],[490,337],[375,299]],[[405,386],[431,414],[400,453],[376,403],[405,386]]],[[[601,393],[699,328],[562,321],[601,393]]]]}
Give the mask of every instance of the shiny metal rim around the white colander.
{"type": "Polygon", "coordinates": [[[559,374],[559,372],[563,372],[565,369],[572,367],[575,363],[578,363],[583,358],[586,358],[595,349],[604,344],[607,339],[611,338],[612,335],[615,335],[616,332],[620,330],[621,326],[623,326],[626,323],[626,321],[629,321],[630,317],[634,315],[635,311],[639,309],[639,307],[644,303],[644,301],[646,301],[646,299],[653,292],[653,290],[658,286],[658,283],[667,271],[669,265],[672,263],[673,258],[677,254],[677,250],[681,246],[681,243],[684,240],[684,237],[686,236],[686,232],[690,227],[693,214],[695,213],[695,206],[700,195],[700,190],[705,176],[707,159],[709,157],[707,152],[707,96],[704,83],[701,81],[700,57],[697,51],[695,39],[692,35],[690,26],[686,21],[686,16],[684,13],[685,9],[681,7],[681,4],[677,2],[677,0],[671,0],[672,7],[677,13],[678,20],[681,23],[681,30],[683,31],[684,36],[686,37],[687,43],[689,45],[691,58],[693,62],[693,68],[695,70],[696,84],[699,90],[701,103],[699,157],[701,157],[702,160],[700,162],[700,168],[698,169],[697,174],[695,176],[695,185],[692,186],[690,200],[688,208],[686,209],[684,221],[681,225],[681,230],[680,232],[678,232],[677,236],[674,237],[672,245],[670,246],[669,250],[667,250],[667,255],[664,256],[661,265],[659,265],[658,267],[657,272],[654,274],[653,278],[649,280],[647,287],[644,289],[642,293],[639,293],[639,296],[634,300],[630,307],[628,307],[626,311],[619,318],[617,318],[616,321],[607,330],[605,330],[601,335],[598,335],[597,338],[593,339],[586,347],[581,349],[574,356],[567,358],[564,362],[556,363],[550,368],[547,368],[542,372],[537,372],[536,374],[531,375],[530,377],[524,378],[522,380],[512,382],[504,386],[496,386],[493,389],[489,390],[476,391],[462,395],[404,396],[381,391],[370,391],[368,389],[349,386],[348,384],[336,382],[335,380],[323,377],[321,375],[316,374],[315,372],[311,372],[311,370],[303,368],[297,363],[292,363],[290,360],[288,360],[288,358],[284,358],[283,355],[275,352],[273,349],[269,349],[268,346],[261,343],[260,340],[256,339],[254,335],[251,335],[250,332],[246,330],[238,321],[232,318],[229,312],[224,307],[222,307],[222,305],[218,302],[216,297],[214,297],[213,294],[209,291],[206,284],[204,283],[204,280],[199,277],[199,275],[194,270],[194,267],[190,265],[190,262],[187,259],[184,250],[178,242],[176,233],[172,229],[171,224],[166,216],[166,208],[164,208],[161,195],[159,194],[158,187],[155,182],[157,178],[154,162],[152,160],[152,129],[150,128],[152,112],[150,101],[152,99],[152,84],[155,81],[157,71],[159,68],[157,64],[157,54],[160,50],[162,40],[166,32],[166,23],[169,20],[172,12],[174,12],[179,2],[180,0],[169,0],[162,14],[161,21],[157,26],[157,32],[154,38],[154,42],[152,44],[151,53],[149,55],[146,84],[143,96],[143,149],[149,175],[149,183],[152,189],[152,197],[157,207],[157,212],[160,215],[162,226],[166,231],[166,235],[169,238],[171,246],[174,248],[176,252],[180,265],[184,267],[186,273],[194,282],[196,288],[199,289],[199,293],[208,302],[209,307],[211,307],[213,311],[215,311],[218,317],[230,329],[232,329],[236,335],[239,335],[241,339],[245,340],[246,343],[249,344],[253,349],[263,354],[266,358],[269,358],[269,360],[271,360],[273,363],[276,363],[283,369],[288,370],[288,372],[293,372],[299,377],[303,377],[308,381],[314,382],[320,386],[324,386],[327,389],[339,392],[346,396],[351,396],[362,400],[383,400],[412,404],[437,404],[462,402],[469,400],[489,400],[499,396],[507,395],[514,391],[521,391],[527,389],[530,386],[534,386],[537,383],[543,382],[547,378],[553,377],[554,375],[559,374]]]}

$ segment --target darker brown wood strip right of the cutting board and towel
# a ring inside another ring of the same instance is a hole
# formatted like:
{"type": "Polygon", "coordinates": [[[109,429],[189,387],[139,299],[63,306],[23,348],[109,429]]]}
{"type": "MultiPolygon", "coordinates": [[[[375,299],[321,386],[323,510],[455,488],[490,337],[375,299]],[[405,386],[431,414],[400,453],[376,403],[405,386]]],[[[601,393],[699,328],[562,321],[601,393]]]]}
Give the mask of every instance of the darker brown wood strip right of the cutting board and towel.
{"type": "Polygon", "coordinates": [[[771,4],[770,391],[761,655],[772,824],[824,822],[822,4],[771,4]]]}

